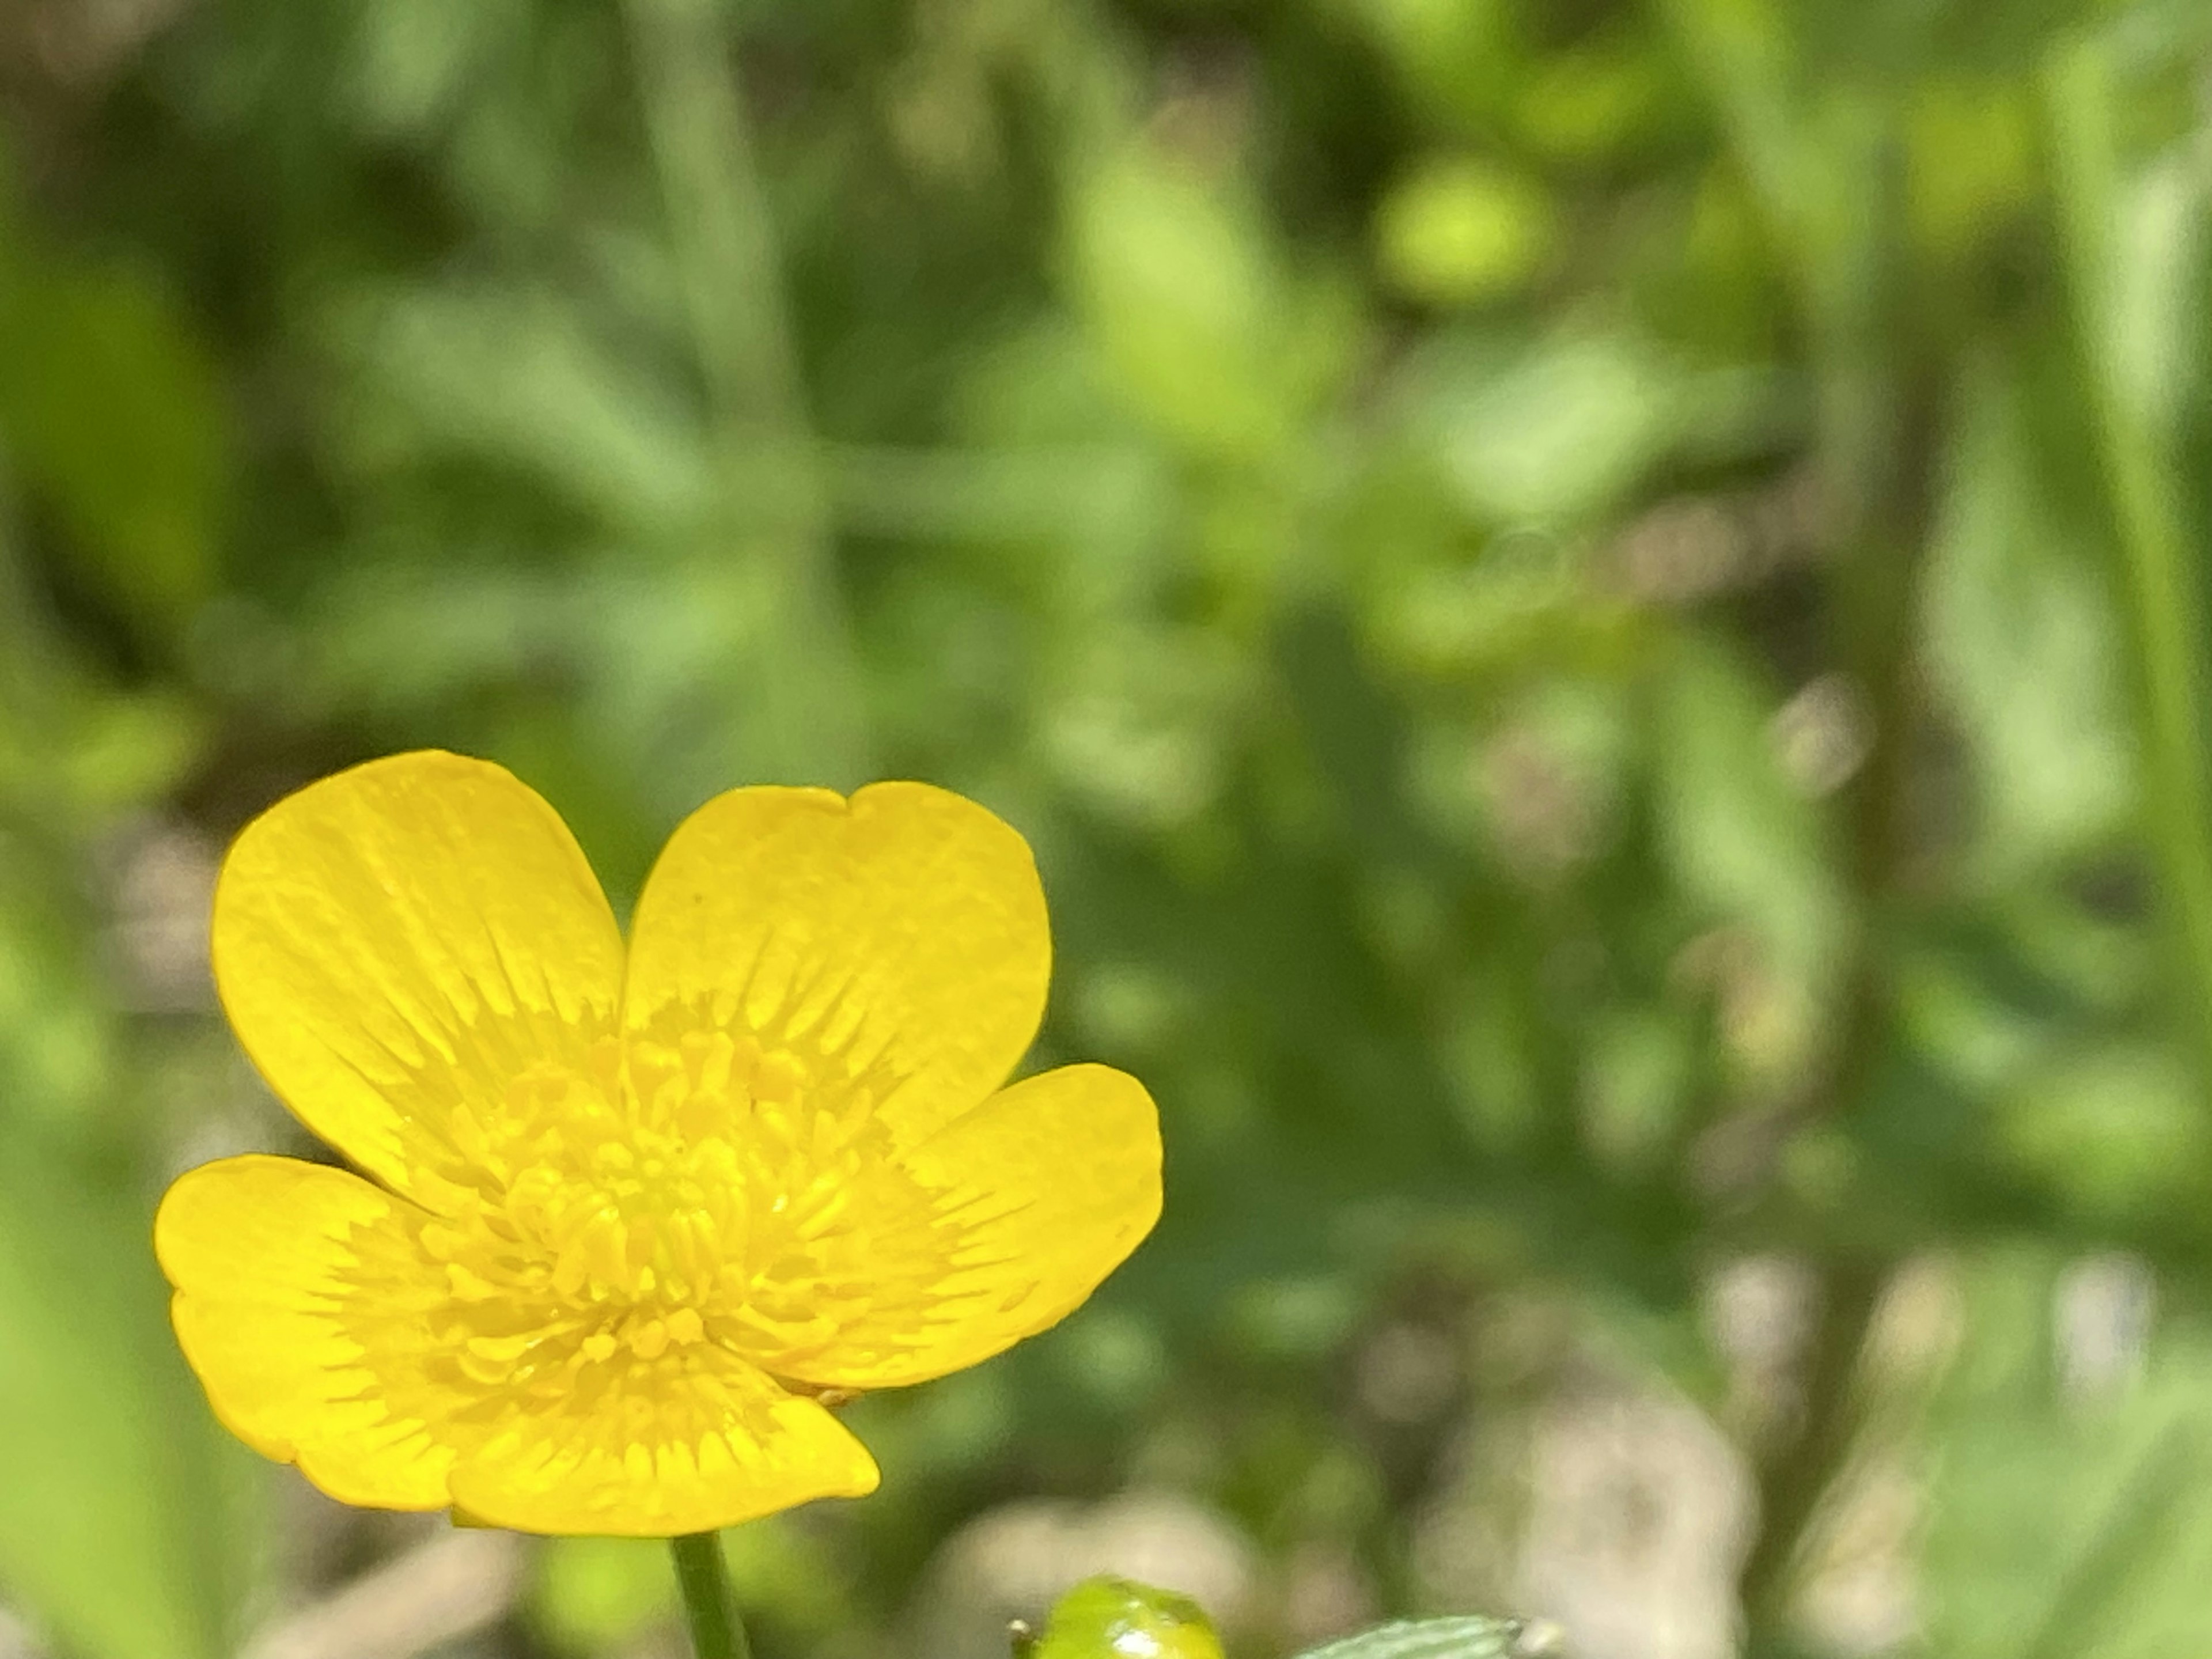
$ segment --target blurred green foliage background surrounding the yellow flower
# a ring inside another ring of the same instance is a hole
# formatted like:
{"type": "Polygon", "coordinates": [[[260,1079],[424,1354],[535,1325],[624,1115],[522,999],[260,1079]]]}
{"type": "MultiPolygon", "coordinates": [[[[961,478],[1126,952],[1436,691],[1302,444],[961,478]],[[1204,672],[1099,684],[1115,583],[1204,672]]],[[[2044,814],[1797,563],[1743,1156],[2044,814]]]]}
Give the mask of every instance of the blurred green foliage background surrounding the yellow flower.
{"type": "Polygon", "coordinates": [[[206,907],[447,745],[1037,847],[1157,1237],[763,1659],[2212,1650],[2201,0],[0,2],[0,1655],[666,1659],[212,1427],[206,907]]]}

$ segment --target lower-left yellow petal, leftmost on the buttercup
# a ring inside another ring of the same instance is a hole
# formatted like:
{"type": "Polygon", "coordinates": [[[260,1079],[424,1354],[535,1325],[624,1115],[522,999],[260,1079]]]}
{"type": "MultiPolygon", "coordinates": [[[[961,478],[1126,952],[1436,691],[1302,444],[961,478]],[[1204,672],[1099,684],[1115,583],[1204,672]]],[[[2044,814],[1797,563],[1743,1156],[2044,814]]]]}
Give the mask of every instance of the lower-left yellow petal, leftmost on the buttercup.
{"type": "Polygon", "coordinates": [[[288,1157],[190,1170],[155,1217],[177,1340],[223,1427],[347,1504],[447,1504],[418,1219],[358,1175],[288,1157]]]}

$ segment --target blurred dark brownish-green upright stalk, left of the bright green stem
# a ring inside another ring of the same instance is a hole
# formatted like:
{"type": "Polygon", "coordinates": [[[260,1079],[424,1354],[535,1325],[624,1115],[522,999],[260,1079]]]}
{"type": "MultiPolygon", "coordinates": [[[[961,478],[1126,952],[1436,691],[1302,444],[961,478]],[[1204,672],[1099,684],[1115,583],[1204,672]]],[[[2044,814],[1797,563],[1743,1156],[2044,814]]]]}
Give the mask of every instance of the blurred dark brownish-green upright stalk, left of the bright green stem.
{"type": "MultiPolygon", "coordinates": [[[[1787,11],[1774,4],[1668,0],[1663,15],[1705,66],[1708,95],[1794,283],[1820,380],[1818,451],[1834,513],[1829,602],[1836,657],[1867,699],[1871,743],[1843,801],[1851,885],[1874,938],[1856,942],[1840,984],[1827,1077],[1798,1117],[1849,1115],[1869,1082],[1887,1020],[1880,936],[1902,860],[1913,697],[1913,604],[1927,542],[1931,374],[1916,361],[1913,270],[1905,243],[1898,108],[1827,88],[1807,97],[1787,11]]],[[[1783,1194],[1770,1194],[1787,1210],[1783,1194]]],[[[1798,1420],[1759,1449],[1759,1535],[1736,1593],[1752,1655],[1787,1648],[1796,1566],[1858,1444],[1860,1354],[1889,1263],[1823,1252],[1820,1318],[1805,1352],[1798,1420]]]]}

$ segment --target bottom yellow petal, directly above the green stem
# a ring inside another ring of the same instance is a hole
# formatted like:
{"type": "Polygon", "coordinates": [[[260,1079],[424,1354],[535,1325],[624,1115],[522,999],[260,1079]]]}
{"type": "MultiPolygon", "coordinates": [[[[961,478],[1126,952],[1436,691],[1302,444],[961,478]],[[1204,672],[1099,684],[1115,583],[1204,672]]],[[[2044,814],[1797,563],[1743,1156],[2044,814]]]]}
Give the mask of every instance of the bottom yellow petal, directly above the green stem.
{"type": "Polygon", "coordinates": [[[860,1498],[876,1480],[876,1460],[821,1405],[699,1347],[650,1396],[511,1418],[451,1484],[469,1515],[520,1533],[675,1537],[860,1498]]]}

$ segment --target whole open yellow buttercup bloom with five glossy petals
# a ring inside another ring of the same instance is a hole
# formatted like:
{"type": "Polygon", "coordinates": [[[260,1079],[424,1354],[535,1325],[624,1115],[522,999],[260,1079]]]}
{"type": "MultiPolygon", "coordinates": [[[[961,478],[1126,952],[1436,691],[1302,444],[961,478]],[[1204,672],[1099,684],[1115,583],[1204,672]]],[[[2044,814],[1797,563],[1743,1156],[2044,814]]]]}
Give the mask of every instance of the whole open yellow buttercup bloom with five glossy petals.
{"type": "Polygon", "coordinates": [[[184,1175],[177,1338],[241,1440],[352,1504],[675,1535],[874,1491],[823,1396],[1053,1325],[1159,1214],[1141,1084],[1000,1086],[1048,967],[1029,847],[920,783],[710,801],[624,949],[500,768],[325,779],[230,849],[215,980],[369,1179],[184,1175]]]}

